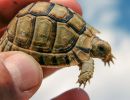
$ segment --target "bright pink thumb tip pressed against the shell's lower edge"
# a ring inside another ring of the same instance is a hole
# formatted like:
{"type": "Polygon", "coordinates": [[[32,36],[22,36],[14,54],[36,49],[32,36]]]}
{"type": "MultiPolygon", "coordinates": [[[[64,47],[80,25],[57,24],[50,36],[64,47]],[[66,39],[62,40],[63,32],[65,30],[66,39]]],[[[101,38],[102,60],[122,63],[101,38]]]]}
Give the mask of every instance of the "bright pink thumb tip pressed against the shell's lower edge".
{"type": "Polygon", "coordinates": [[[41,66],[31,56],[22,52],[0,53],[0,58],[11,74],[15,87],[24,99],[29,99],[42,82],[41,66]]]}

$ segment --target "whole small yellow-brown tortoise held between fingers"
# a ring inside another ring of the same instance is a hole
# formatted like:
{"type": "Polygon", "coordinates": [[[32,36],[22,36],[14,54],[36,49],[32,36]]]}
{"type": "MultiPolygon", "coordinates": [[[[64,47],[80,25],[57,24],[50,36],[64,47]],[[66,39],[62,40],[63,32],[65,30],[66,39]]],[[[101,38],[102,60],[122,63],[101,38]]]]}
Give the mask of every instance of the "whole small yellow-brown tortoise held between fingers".
{"type": "Polygon", "coordinates": [[[111,46],[72,9],[50,2],[31,3],[19,11],[0,40],[0,51],[22,51],[44,67],[78,65],[79,85],[93,76],[94,60],[113,62],[111,46]]]}

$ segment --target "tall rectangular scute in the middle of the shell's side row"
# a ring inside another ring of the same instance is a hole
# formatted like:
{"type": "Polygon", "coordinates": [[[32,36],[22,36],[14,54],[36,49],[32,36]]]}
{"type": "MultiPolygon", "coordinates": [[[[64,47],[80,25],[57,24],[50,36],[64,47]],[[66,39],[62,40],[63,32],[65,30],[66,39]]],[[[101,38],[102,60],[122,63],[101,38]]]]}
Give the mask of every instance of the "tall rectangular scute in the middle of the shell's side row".
{"type": "Polygon", "coordinates": [[[46,16],[36,18],[34,36],[30,49],[39,52],[51,52],[56,34],[55,22],[46,16]]]}

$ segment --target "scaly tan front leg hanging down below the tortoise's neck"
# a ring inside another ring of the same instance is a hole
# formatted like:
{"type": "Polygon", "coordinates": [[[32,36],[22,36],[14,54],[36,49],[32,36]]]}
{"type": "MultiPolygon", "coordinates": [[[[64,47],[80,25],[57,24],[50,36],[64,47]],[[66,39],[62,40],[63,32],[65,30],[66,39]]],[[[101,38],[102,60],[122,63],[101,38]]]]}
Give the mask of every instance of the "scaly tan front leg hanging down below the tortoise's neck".
{"type": "Polygon", "coordinates": [[[84,85],[84,87],[86,86],[86,82],[89,82],[90,79],[93,76],[93,72],[94,72],[94,61],[92,58],[90,58],[88,61],[84,61],[82,62],[82,64],[80,65],[80,75],[79,75],[79,79],[78,79],[78,83],[79,86],[81,86],[82,84],[84,85]]]}

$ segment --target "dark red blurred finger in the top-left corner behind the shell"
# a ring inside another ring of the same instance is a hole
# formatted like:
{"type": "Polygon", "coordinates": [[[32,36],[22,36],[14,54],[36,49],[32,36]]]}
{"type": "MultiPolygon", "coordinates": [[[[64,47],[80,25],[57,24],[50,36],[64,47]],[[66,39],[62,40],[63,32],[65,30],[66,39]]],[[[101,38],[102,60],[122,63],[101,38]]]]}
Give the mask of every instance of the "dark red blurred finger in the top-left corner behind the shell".
{"type": "MultiPolygon", "coordinates": [[[[22,8],[27,6],[32,2],[37,2],[39,0],[0,0],[0,22],[10,21],[14,15],[22,8]],[[3,10],[4,9],[4,10],[3,10]]],[[[49,0],[40,0],[49,1],[49,0]]]]}

